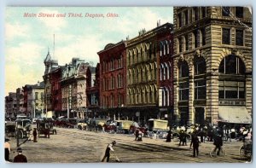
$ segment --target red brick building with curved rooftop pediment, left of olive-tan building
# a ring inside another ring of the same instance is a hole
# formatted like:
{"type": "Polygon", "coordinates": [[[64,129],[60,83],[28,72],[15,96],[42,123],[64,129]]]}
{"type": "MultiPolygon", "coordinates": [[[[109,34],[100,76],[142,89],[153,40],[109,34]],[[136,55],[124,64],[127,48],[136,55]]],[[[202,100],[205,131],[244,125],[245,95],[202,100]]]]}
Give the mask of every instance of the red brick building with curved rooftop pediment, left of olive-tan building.
{"type": "Polygon", "coordinates": [[[102,115],[120,113],[116,107],[125,106],[125,53],[126,42],[108,43],[98,52],[100,57],[100,107],[105,109],[102,115]]]}

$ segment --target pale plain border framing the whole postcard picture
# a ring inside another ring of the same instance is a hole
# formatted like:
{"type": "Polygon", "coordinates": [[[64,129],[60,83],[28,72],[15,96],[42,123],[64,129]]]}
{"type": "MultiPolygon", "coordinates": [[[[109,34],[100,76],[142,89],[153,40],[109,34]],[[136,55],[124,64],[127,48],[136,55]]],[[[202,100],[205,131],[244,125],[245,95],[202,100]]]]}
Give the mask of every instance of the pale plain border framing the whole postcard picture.
{"type": "MultiPolygon", "coordinates": [[[[218,5],[226,5],[226,6],[252,6],[253,9],[255,7],[256,1],[253,0],[232,0],[232,1],[223,1],[223,0],[194,0],[194,1],[188,1],[188,0],[162,0],[162,1],[156,1],[156,0],[86,0],[86,1],[79,1],[79,0],[62,0],[62,1],[55,1],[52,0],[23,0],[23,1],[16,1],[16,0],[2,0],[0,1],[0,119],[3,126],[0,127],[0,142],[3,144],[3,138],[4,138],[4,12],[6,6],[218,6],[218,5]]],[[[253,12],[253,23],[256,23],[255,21],[255,12],[253,12]]],[[[253,26],[254,31],[254,26],[253,26]]],[[[255,38],[255,33],[253,33],[253,41],[255,38]]],[[[253,50],[255,49],[255,43],[253,43],[253,50]]],[[[254,52],[253,52],[254,53],[254,52]]],[[[253,59],[253,64],[255,64],[256,61],[253,59]]],[[[253,68],[253,75],[255,73],[255,68],[253,68]]],[[[255,83],[253,82],[253,88],[255,86],[255,83]]],[[[255,90],[253,90],[253,96],[255,95],[255,90]]],[[[253,99],[253,104],[255,103],[255,99],[253,99]]],[[[253,115],[253,121],[255,121],[255,115],[253,115]]],[[[255,128],[255,124],[253,122],[253,129],[255,128]]],[[[253,144],[255,143],[255,138],[253,138],[253,144]]],[[[3,147],[3,146],[2,146],[3,147]]],[[[52,166],[57,168],[70,168],[70,166],[76,166],[76,167],[88,167],[93,166],[96,168],[100,167],[106,167],[111,166],[112,168],[119,167],[119,164],[26,164],[26,165],[20,165],[20,164],[6,164],[3,160],[3,154],[4,150],[2,149],[0,152],[0,164],[1,167],[19,167],[19,168],[27,168],[32,166],[37,166],[38,168],[43,168],[45,166],[52,166]]],[[[147,167],[147,168],[154,168],[156,166],[161,166],[162,168],[167,167],[186,167],[189,166],[191,168],[194,167],[207,167],[207,168],[216,168],[218,167],[224,167],[224,166],[231,166],[232,168],[241,167],[241,166],[247,166],[247,167],[255,167],[255,145],[253,145],[253,164],[125,164],[122,163],[122,167],[128,168],[128,167],[147,167]]]]}

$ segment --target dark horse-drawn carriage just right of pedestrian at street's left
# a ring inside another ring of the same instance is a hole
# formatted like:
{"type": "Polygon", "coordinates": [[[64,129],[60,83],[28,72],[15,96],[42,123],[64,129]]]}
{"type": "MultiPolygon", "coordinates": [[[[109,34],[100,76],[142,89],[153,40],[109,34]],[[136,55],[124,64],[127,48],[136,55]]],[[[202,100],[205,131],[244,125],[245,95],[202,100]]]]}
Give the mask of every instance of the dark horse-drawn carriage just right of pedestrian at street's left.
{"type": "Polygon", "coordinates": [[[37,120],[38,136],[44,134],[44,136],[49,136],[49,134],[57,134],[57,130],[53,127],[53,123],[47,120],[37,120]]]}

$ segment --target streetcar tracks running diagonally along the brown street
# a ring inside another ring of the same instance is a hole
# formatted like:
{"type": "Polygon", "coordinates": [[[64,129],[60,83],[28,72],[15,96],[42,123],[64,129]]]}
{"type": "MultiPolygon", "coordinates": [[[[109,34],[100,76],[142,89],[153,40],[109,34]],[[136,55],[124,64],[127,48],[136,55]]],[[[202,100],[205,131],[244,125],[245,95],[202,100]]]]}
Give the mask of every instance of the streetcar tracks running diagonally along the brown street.
{"type": "MultiPolygon", "coordinates": [[[[89,142],[102,142],[103,141],[117,141],[119,145],[119,149],[116,149],[116,152],[123,152],[125,149],[125,157],[119,157],[119,159],[121,159],[123,162],[125,162],[125,160],[127,159],[133,159],[133,157],[136,157],[134,159],[137,160],[137,162],[139,160],[143,159],[143,162],[150,160],[150,159],[165,159],[166,161],[164,162],[170,162],[170,160],[172,160],[172,163],[177,163],[179,162],[179,160],[183,160],[183,163],[186,162],[197,162],[197,163],[236,163],[236,162],[242,162],[241,160],[237,160],[234,159],[237,157],[237,155],[234,152],[236,152],[236,150],[227,150],[227,154],[229,156],[225,156],[225,157],[216,157],[216,158],[211,158],[209,153],[207,154],[200,154],[199,158],[193,158],[193,157],[186,157],[186,159],[184,160],[183,156],[191,156],[192,155],[192,150],[189,149],[184,149],[184,148],[176,148],[176,147],[170,147],[170,146],[166,146],[164,144],[152,144],[152,143],[148,143],[148,142],[143,142],[143,143],[139,143],[139,142],[135,142],[133,140],[125,140],[122,139],[118,136],[115,136],[113,134],[112,137],[109,137],[109,135],[111,134],[107,134],[106,136],[104,136],[105,134],[100,133],[101,135],[96,135],[93,134],[94,132],[88,132],[88,131],[83,131],[81,130],[80,132],[78,131],[73,131],[73,130],[59,130],[58,131],[60,135],[62,136],[71,136],[73,138],[79,138],[79,139],[83,139],[89,142]],[[82,134],[81,134],[82,133],[82,134]],[[102,136],[103,135],[103,136],[102,136]],[[132,146],[131,146],[132,145],[132,146]],[[145,155],[143,154],[143,158],[138,158],[138,156],[134,155],[134,152],[140,152],[140,154],[142,152],[145,153],[145,155]],[[158,156],[158,157],[147,157],[148,153],[154,153],[154,155],[158,156]],[[185,153],[185,154],[184,154],[185,153]],[[125,159],[127,158],[127,159],[125,159]],[[175,161],[174,161],[175,160],[175,161]],[[177,161],[177,162],[176,162],[177,161]]],[[[126,136],[126,135],[125,135],[126,136]]],[[[213,147],[213,145],[212,145],[213,147]]],[[[204,147],[206,151],[210,151],[211,148],[207,148],[204,147]]],[[[131,160],[130,160],[131,161],[131,160]]]]}

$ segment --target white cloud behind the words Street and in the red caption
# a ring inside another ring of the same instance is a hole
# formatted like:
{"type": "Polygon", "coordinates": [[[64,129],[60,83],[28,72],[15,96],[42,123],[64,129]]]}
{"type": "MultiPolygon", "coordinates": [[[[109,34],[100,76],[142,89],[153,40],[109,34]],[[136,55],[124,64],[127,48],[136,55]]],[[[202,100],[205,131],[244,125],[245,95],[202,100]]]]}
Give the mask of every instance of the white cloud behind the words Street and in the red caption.
{"type": "Polygon", "coordinates": [[[55,17],[38,17],[45,26],[51,30],[61,30],[62,27],[67,26],[65,17],[56,17],[56,14],[61,14],[58,10],[42,9],[38,12],[39,14],[55,14],[55,17]]]}

